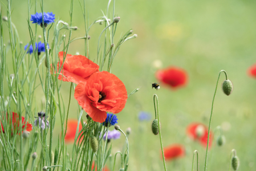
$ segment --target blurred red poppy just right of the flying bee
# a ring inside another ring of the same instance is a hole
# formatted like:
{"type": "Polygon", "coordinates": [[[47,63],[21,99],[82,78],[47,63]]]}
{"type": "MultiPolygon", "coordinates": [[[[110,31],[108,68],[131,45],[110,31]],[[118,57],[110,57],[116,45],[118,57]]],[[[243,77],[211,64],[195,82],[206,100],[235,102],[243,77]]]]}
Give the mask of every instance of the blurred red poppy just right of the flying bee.
{"type": "Polygon", "coordinates": [[[177,67],[168,67],[156,72],[156,78],[161,83],[169,85],[172,88],[185,86],[188,80],[186,71],[177,67]]]}

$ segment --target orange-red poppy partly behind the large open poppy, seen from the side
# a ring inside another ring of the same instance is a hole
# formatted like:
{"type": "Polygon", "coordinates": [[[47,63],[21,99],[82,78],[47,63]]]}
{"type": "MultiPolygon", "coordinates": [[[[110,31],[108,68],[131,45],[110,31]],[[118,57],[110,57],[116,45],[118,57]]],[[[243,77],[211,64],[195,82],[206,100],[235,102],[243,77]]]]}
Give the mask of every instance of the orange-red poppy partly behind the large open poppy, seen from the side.
{"type": "MultiPolygon", "coordinates": [[[[63,56],[64,52],[59,52],[60,62],[58,62],[58,68],[62,66],[63,56]]],[[[63,80],[63,82],[78,84],[80,82],[86,82],[89,76],[97,71],[99,71],[99,66],[86,58],[86,56],[67,54],[58,79],[63,80]]]]}

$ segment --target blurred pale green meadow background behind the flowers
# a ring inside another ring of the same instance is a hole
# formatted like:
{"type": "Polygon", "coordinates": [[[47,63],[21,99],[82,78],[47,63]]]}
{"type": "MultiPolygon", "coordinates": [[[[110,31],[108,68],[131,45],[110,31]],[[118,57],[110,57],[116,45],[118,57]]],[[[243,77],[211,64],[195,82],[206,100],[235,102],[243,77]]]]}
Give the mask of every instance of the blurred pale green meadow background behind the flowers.
{"type": "MultiPolygon", "coordinates": [[[[103,15],[101,10],[105,12],[108,3],[92,0],[86,2],[90,23],[103,15]]],[[[38,12],[39,7],[38,3],[38,12]]],[[[30,41],[27,1],[15,0],[12,8],[13,23],[25,46],[30,41]]],[[[222,93],[220,86],[225,77],[221,75],[214,103],[212,130],[221,125],[224,128],[226,144],[219,147],[213,143],[209,152],[208,169],[227,170],[231,149],[236,149],[241,161],[239,170],[256,170],[256,80],[247,75],[247,69],[256,62],[255,9],[256,1],[250,0],[116,1],[115,14],[121,20],[117,26],[115,43],[130,28],[138,35],[136,39],[121,46],[112,69],[112,73],[123,81],[128,93],[141,87],[139,92],[128,98],[123,111],[117,114],[121,129],[132,129],[129,136],[129,170],[164,170],[159,136],[152,134],[150,122],[140,122],[138,119],[140,111],[147,111],[152,113],[153,120],[154,93],[159,96],[163,145],[182,144],[186,148],[185,157],[167,161],[168,170],[190,170],[195,149],[199,152],[200,169],[203,169],[206,149],[186,136],[186,127],[192,122],[209,124],[213,93],[220,70],[227,72],[234,90],[230,96],[222,93]],[[152,89],[150,83],[157,82],[156,60],[162,63],[162,68],[184,68],[189,75],[187,86],[173,91],[160,84],[158,91],[152,89]]],[[[56,19],[68,23],[69,10],[70,1],[44,1],[44,11],[52,11],[56,19]]],[[[6,15],[5,11],[3,8],[3,15],[6,15]]],[[[112,7],[109,11],[112,16],[112,7]]],[[[31,14],[34,14],[34,6],[31,14]]],[[[75,1],[73,20],[72,25],[78,26],[79,30],[72,32],[72,38],[84,36],[84,20],[79,1],[75,1]]],[[[5,26],[4,38],[7,44],[9,33],[6,28],[5,26]]],[[[103,25],[96,24],[89,32],[92,60],[96,56],[97,40],[103,28],[103,25]]],[[[38,34],[42,35],[42,30],[38,29],[38,34]]],[[[63,31],[63,34],[68,35],[68,31],[63,31]]],[[[51,40],[49,44],[51,46],[51,40]]],[[[76,52],[84,55],[83,40],[70,44],[68,53],[76,52]]],[[[7,55],[11,64],[11,52],[7,55]]],[[[70,83],[64,82],[63,99],[68,99],[69,89],[70,83]]],[[[35,99],[37,108],[41,108],[44,97],[40,86],[35,99]]],[[[68,105],[68,100],[65,103],[68,105]]],[[[70,118],[76,119],[77,111],[78,105],[72,98],[70,118]]],[[[59,113],[56,116],[55,137],[60,133],[59,113]]],[[[86,118],[85,115],[83,117],[86,118]]],[[[121,137],[112,143],[113,155],[121,150],[125,139],[121,137]]],[[[71,152],[72,145],[68,145],[68,150],[71,152]]]]}

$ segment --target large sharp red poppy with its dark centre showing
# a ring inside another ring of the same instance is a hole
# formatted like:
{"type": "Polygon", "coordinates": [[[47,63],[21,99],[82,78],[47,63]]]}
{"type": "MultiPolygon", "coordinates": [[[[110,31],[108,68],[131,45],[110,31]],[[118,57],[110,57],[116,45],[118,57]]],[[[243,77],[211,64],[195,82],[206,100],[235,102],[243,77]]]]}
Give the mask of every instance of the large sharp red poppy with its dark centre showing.
{"type": "Polygon", "coordinates": [[[107,111],[119,113],[123,110],[127,91],[117,76],[102,71],[92,74],[87,82],[79,83],[74,96],[92,120],[103,123],[107,111]]]}

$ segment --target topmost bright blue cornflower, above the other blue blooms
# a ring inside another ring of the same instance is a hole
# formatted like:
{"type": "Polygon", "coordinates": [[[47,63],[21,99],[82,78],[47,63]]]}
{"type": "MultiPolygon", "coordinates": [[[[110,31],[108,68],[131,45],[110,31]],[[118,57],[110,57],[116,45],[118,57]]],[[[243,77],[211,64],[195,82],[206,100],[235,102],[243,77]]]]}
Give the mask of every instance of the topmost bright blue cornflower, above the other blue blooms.
{"type": "Polygon", "coordinates": [[[43,27],[43,22],[44,22],[44,27],[47,27],[48,24],[54,23],[55,19],[55,14],[51,13],[35,13],[34,15],[31,14],[31,19],[32,23],[37,23],[41,27],[43,27]]]}

